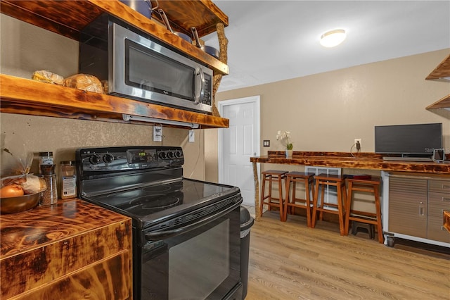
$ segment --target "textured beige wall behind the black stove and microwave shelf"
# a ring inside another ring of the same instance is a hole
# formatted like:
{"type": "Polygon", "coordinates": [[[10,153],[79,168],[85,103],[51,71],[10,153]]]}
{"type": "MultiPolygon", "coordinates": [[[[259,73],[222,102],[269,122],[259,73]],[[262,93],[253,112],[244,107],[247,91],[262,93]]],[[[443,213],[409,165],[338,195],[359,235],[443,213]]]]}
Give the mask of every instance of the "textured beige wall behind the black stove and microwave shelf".
{"type": "MultiPolygon", "coordinates": [[[[3,74],[31,78],[34,70],[51,70],[64,77],[77,73],[78,42],[39,27],[0,15],[3,74]]],[[[75,149],[88,146],[164,145],[182,146],[186,156],[184,175],[205,178],[203,130],[195,130],[195,143],[188,130],[163,127],[163,142],[153,142],[153,127],[70,120],[32,115],[0,114],[1,146],[23,141],[27,151],[53,151],[56,162],[75,158],[75,149]]],[[[1,151],[1,167],[11,158],[1,151]]],[[[36,156],[35,155],[35,156],[36,156]]],[[[32,172],[37,172],[37,157],[32,172]]]]}

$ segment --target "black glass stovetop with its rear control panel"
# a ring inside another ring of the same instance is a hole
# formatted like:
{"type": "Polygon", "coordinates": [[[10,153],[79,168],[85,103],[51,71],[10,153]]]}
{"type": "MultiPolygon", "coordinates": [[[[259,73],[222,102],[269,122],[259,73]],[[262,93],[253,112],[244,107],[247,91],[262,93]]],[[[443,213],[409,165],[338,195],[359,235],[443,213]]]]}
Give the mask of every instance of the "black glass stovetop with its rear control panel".
{"type": "Polygon", "coordinates": [[[184,178],[179,147],[79,149],[76,158],[82,199],[128,215],[141,230],[240,194],[184,178]]]}

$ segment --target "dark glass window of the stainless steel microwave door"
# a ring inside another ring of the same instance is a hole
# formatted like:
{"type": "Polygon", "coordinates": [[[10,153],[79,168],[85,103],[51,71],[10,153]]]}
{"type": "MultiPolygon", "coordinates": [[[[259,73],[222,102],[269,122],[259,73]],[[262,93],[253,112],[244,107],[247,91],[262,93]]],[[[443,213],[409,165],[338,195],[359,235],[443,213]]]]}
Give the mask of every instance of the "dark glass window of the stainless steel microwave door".
{"type": "Polygon", "coordinates": [[[125,40],[127,85],[193,101],[194,69],[125,40]]]}

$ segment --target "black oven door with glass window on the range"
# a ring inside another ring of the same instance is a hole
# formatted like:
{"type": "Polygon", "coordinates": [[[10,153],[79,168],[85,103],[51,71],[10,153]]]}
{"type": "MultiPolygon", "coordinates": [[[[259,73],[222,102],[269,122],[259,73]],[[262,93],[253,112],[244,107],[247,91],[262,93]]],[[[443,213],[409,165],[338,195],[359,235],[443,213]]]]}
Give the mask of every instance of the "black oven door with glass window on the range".
{"type": "Polygon", "coordinates": [[[240,202],[145,236],[135,265],[136,299],[242,299],[240,202]]]}

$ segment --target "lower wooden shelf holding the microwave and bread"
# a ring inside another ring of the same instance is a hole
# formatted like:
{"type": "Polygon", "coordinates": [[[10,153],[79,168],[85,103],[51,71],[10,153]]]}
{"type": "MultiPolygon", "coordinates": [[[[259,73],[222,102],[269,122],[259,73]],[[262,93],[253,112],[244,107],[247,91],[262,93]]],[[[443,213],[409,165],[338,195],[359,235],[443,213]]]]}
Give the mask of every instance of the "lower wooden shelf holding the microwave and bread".
{"type": "MultiPolygon", "coordinates": [[[[124,121],[122,114],[128,114],[160,120],[195,123],[199,124],[200,128],[229,127],[228,119],[214,115],[184,111],[107,94],[84,92],[79,89],[10,75],[0,74],[0,87],[1,113],[43,115],[113,123],[149,124],[139,121],[124,121]]],[[[186,125],[186,127],[188,126],[186,125]]]]}

